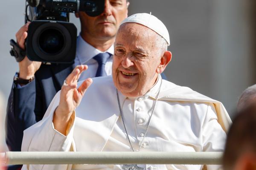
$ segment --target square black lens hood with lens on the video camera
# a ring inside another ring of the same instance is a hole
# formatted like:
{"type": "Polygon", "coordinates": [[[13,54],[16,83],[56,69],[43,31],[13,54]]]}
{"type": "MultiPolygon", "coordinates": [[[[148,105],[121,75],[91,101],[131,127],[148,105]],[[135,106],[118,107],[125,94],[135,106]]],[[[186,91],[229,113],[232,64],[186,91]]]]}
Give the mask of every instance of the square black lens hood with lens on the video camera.
{"type": "Polygon", "coordinates": [[[73,23],[35,20],[29,24],[26,53],[31,61],[70,63],[76,57],[73,23]]]}

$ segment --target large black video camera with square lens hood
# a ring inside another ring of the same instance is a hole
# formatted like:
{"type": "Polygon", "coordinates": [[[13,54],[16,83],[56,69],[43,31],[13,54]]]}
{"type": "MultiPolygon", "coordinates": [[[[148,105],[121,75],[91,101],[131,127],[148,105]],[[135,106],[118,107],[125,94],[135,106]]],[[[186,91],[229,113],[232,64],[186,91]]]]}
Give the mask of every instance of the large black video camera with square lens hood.
{"type": "Polygon", "coordinates": [[[104,11],[105,0],[27,0],[25,22],[31,21],[26,55],[31,61],[71,63],[76,57],[77,29],[69,13],[91,17],[104,11]]]}

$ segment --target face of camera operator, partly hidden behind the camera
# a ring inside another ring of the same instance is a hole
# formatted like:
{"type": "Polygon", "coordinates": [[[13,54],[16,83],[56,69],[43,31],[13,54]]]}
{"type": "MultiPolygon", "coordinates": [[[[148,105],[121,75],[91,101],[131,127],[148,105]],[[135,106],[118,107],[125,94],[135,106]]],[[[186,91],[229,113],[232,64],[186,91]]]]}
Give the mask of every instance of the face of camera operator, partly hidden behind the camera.
{"type": "Polygon", "coordinates": [[[128,3],[126,0],[105,0],[105,8],[97,17],[89,17],[85,12],[79,12],[82,31],[91,37],[111,38],[127,17],[128,3]]]}

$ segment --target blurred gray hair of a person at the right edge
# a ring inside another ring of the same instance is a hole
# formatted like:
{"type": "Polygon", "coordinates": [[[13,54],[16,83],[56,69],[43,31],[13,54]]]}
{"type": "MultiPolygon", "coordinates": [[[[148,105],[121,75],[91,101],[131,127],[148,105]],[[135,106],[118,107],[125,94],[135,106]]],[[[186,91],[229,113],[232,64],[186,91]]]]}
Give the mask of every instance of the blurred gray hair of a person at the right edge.
{"type": "Polygon", "coordinates": [[[251,104],[253,99],[256,98],[256,84],[248,87],[241,94],[239,101],[237,103],[237,110],[241,111],[251,104]]]}

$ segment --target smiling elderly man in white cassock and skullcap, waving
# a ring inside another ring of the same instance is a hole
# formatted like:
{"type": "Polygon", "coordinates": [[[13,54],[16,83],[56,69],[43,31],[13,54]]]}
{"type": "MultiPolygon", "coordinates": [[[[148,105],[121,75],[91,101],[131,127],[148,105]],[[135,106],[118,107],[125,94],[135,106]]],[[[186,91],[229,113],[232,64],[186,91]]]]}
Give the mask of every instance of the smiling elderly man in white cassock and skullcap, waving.
{"type": "MultiPolygon", "coordinates": [[[[223,105],[163,80],[169,33],[151,14],[125,19],[113,76],[77,83],[77,66],[44,119],[24,131],[23,151],[222,151],[231,121],[223,105]],[[93,83],[93,84],[92,84],[93,83]],[[92,85],[91,85],[92,84],[92,85]],[[89,87],[90,86],[90,87],[89,87]]],[[[203,165],[23,165],[23,170],[201,170],[203,165]]],[[[220,166],[209,165],[208,170],[220,166]]]]}

